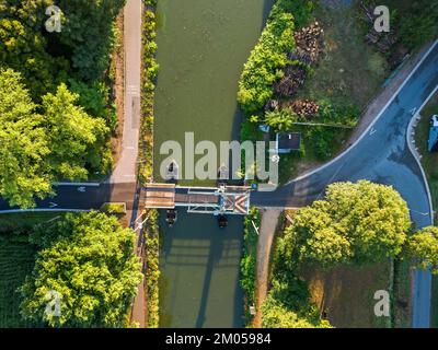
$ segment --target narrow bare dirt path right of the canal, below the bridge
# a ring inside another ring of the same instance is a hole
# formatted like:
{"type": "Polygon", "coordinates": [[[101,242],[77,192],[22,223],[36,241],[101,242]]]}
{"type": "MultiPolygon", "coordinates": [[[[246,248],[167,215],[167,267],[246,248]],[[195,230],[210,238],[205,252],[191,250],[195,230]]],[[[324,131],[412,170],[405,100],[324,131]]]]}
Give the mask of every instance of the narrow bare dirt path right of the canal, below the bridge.
{"type": "Polygon", "coordinates": [[[257,246],[257,313],[254,317],[254,327],[262,327],[261,306],[267,294],[267,283],[269,277],[269,258],[273,246],[275,229],[283,209],[262,209],[262,223],[257,246]]]}

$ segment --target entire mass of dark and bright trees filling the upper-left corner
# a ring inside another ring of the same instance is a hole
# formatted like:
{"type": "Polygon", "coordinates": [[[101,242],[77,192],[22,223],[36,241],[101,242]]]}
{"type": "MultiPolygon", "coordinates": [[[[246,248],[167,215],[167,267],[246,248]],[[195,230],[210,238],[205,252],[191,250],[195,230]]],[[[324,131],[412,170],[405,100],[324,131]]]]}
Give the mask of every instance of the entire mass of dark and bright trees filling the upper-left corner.
{"type": "Polygon", "coordinates": [[[124,4],[0,0],[0,108],[9,112],[0,116],[0,195],[11,206],[32,207],[53,192],[51,180],[111,168],[107,140],[117,118],[107,72],[124,4]],[[53,4],[61,31],[49,33],[53,4]]]}

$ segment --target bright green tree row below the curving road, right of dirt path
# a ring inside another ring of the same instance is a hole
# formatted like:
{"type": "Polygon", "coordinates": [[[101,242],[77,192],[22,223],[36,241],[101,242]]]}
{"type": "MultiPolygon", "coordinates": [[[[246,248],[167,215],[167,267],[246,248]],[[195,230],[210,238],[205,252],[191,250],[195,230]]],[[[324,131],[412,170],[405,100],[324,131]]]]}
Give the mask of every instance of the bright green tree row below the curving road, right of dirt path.
{"type": "Polygon", "coordinates": [[[307,283],[298,277],[304,264],[328,269],[397,258],[438,273],[438,229],[411,230],[406,202],[392,187],[367,180],[330,185],[324,200],[299,210],[277,242],[264,326],[330,326],[309,306],[307,283]]]}

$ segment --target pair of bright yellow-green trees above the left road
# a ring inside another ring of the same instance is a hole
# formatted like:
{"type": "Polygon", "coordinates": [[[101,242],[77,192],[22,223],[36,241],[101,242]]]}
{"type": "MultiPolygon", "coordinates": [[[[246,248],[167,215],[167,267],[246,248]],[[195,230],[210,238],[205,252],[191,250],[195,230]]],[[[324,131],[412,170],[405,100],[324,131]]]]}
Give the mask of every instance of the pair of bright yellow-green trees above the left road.
{"type": "Polygon", "coordinates": [[[60,84],[35,104],[21,74],[0,70],[0,195],[28,208],[51,194],[57,178],[85,179],[110,162],[101,154],[108,128],[78,106],[78,95],[60,84]]]}

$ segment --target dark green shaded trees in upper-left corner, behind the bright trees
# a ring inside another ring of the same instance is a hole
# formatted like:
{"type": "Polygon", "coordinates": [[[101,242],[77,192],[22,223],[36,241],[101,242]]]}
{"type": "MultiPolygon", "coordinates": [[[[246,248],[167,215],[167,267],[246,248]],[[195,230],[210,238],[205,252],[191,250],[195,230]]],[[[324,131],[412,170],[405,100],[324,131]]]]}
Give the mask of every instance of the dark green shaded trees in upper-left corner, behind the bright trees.
{"type": "Polygon", "coordinates": [[[68,78],[88,83],[102,80],[114,42],[114,19],[124,3],[2,0],[0,62],[23,74],[35,98],[54,92],[68,78]],[[59,33],[45,30],[46,9],[53,4],[62,11],[59,33]]]}

